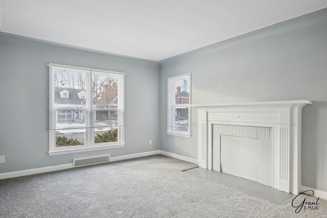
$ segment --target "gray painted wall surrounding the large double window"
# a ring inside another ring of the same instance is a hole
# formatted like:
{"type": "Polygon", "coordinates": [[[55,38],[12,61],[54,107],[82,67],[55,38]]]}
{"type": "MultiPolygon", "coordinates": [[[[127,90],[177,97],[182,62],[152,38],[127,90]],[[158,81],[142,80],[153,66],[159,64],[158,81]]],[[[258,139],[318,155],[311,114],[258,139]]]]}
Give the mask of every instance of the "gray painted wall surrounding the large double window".
{"type": "Polygon", "coordinates": [[[40,43],[0,33],[0,173],[159,150],[159,64],[40,43]],[[125,148],[49,156],[49,71],[58,63],[124,71],[125,148]],[[149,146],[152,139],[152,146],[149,146]]]}

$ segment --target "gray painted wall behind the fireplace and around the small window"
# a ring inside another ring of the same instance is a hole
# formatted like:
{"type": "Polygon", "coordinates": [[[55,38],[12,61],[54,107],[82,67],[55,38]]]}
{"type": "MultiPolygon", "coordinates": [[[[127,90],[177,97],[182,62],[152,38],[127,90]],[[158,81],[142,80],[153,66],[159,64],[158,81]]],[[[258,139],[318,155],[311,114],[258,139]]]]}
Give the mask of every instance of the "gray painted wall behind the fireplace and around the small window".
{"type": "Polygon", "coordinates": [[[167,135],[167,77],[192,72],[192,104],[311,100],[302,109],[302,185],[327,191],[327,9],[161,61],[160,149],[198,158],[167,135]]]}

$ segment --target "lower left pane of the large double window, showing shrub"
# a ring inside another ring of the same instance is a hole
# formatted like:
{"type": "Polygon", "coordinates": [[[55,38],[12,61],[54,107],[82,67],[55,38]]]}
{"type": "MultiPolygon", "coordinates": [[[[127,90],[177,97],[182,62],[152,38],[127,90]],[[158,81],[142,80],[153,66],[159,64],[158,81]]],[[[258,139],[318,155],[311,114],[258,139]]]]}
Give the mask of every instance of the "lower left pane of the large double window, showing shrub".
{"type": "Polygon", "coordinates": [[[84,111],[57,111],[56,147],[80,146],[85,144],[84,111]]]}

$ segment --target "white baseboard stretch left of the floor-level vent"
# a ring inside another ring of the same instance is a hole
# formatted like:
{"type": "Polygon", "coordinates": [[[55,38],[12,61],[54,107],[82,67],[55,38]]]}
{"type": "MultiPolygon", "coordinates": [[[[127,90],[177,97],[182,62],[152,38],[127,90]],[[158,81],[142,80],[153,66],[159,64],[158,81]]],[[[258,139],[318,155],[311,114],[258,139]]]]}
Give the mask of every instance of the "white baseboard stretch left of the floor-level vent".
{"type": "Polygon", "coordinates": [[[57,165],[57,166],[46,166],[46,167],[35,168],[35,169],[26,169],[25,171],[15,171],[15,172],[10,172],[10,173],[3,173],[3,174],[0,174],[0,179],[48,173],[48,172],[52,172],[52,171],[61,171],[62,169],[69,169],[69,168],[73,168],[73,163],[61,164],[61,165],[57,165]]]}

